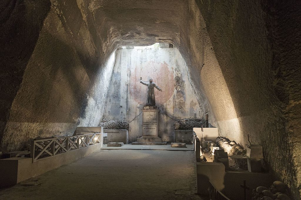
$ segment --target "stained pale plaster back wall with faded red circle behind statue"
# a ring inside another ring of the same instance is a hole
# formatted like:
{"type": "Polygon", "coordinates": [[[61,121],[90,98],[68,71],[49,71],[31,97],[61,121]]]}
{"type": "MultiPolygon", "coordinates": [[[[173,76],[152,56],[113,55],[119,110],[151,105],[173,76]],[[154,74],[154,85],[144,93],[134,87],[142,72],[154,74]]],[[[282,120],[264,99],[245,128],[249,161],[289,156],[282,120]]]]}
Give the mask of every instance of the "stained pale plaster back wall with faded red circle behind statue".
{"type": "Polygon", "coordinates": [[[155,89],[163,141],[173,141],[173,120],[203,116],[177,48],[135,47],[119,49],[116,54],[103,118],[129,122],[129,141],[142,136],[147,87],[140,83],[140,77],[145,82],[153,78],[163,90],[155,89]]]}

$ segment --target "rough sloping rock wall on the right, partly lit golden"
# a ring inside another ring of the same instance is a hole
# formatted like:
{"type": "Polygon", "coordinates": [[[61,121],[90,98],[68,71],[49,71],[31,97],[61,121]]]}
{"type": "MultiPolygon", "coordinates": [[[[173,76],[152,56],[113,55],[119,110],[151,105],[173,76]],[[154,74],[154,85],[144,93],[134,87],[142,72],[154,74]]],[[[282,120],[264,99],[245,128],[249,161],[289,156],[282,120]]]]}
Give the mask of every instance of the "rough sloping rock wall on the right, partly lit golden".
{"type": "Polygon", "coordinates": [[[280,1],[191,1],[190,45],[180,51],[185,60],[185,52],[192,54],[192,82],[198,95],[206,94],[219,134],[242,146],[250,134],[275,179],[300,199],[300,33],[289,33],[299,30],[297,8],[280,1]]]}

